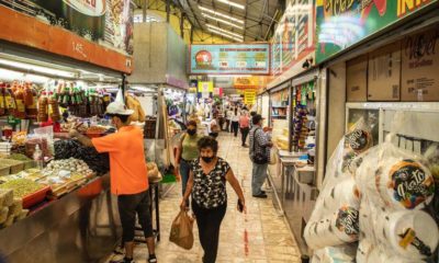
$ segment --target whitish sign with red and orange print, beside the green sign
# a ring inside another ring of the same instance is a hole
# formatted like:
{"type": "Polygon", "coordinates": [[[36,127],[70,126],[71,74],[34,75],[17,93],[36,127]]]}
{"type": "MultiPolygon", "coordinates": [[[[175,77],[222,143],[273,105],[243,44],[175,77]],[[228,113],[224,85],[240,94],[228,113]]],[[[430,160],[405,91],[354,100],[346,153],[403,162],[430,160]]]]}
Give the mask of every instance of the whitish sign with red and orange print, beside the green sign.
{"type": "MultiPolygon", "coordinates": [[[[282,75],[315,52],[314,0],[292,0],[272,42],[272,72],[282,75]]],[[[299,72],[297,72],[299,73],[299,72]]]]}

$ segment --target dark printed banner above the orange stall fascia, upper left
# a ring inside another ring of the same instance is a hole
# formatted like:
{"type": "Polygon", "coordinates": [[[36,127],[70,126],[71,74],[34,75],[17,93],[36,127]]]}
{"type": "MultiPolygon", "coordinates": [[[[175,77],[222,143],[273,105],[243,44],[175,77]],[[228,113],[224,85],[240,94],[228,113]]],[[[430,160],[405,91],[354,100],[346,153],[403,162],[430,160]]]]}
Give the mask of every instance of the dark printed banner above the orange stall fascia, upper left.
{"type": "Polygon", "coordinates": [[[133,54],[130,0],[0,0],[0,4],[121,53],[133,54]]]}

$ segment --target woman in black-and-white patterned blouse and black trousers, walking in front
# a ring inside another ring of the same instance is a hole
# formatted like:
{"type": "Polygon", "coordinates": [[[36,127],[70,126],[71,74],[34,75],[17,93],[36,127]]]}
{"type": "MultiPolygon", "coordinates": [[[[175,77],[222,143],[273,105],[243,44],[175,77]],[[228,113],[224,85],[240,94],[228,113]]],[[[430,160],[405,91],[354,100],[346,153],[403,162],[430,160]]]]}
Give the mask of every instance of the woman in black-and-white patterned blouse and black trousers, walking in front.
{"type": "Polygon", "coordinates": [[[212,137],[203,137],[199,144],[200,158],[192,164],[188,188],[181,201],[184,209],[192,194],[192,210],[196,217],[199,238],[204,250],[203,263],[214,263],[218,250],[221,222],[226,214],[226,181],[238,195],[238,210],[246,210],[243,190],[230,165],[217,157],[218,142],[212,137]]]}

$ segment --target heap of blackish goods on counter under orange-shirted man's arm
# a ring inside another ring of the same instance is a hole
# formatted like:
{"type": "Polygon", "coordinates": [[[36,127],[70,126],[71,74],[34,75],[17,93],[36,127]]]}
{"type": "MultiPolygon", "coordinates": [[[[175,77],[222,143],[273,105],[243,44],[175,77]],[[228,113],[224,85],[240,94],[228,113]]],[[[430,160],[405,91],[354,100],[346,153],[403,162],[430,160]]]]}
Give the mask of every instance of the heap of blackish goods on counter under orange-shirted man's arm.
{"type": "Polygon", "coordinates": [[[110,158],[108,153],[99,153],[94,148],[85,147],[79,141],[72,139],[56,141],[55,160],[69,158],[82,160],[98,175],[110,171],[110,158]]]}

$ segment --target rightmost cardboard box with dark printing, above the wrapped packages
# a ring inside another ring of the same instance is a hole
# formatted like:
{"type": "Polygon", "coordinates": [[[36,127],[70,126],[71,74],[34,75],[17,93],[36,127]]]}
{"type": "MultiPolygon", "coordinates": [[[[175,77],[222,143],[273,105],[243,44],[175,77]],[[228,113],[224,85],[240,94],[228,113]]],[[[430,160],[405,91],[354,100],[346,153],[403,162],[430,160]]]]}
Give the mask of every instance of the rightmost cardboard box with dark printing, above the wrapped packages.
{"type": "Polygon", "coordinates": [[[438,26],[403,41],[402,101],[439,101],[438,26]]]}

